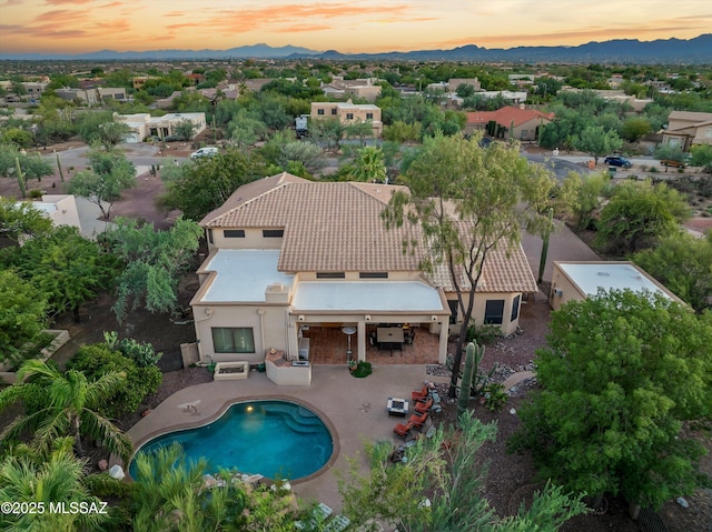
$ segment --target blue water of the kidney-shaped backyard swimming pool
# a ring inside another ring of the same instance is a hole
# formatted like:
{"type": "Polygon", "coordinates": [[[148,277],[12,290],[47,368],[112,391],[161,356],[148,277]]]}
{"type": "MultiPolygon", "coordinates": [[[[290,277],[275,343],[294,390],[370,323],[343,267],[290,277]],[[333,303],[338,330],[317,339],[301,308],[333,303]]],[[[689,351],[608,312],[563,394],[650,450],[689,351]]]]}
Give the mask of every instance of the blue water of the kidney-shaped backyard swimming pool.
{"type": "MultiPolygon", "coordinates": [[[[158,436],[139,453],[172,443],[182,446],[188,461],[207,459],[206,473],[237,469],[289,480],[318,471],[334,452],[332,434],[319,416],[287,401],[233,404],[212,423],[158,436]]],[[[129,473],[136,479],[134,460],[129,473]]]]}

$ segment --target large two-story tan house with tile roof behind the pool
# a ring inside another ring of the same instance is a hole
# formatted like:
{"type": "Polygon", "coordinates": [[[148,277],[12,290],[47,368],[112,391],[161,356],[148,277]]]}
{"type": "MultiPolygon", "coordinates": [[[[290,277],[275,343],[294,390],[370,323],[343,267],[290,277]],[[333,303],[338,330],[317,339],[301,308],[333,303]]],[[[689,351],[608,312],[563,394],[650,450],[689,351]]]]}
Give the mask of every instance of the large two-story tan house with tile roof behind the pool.
{"type": "MultiPolygon", "coordinates": [[[[451,323],[463,325],[456,294],[444,268],[429,279],[419,271],[422,249],[403,252],[418,228],[384,228],[395,190],[404,189],[280,173],[240,187],[206,215],[209,255],[190,302],[200,360],[261,363],[271,350],[296,360],[309,349],[300,342],[306,327],[353,328],[365,360],[377,324],[407,323],[438,334],[444,363],[451,323]]],[[[493,251],[473,319],[510,334],[523,294],[536,290],[521,247],[493,251]]]]}

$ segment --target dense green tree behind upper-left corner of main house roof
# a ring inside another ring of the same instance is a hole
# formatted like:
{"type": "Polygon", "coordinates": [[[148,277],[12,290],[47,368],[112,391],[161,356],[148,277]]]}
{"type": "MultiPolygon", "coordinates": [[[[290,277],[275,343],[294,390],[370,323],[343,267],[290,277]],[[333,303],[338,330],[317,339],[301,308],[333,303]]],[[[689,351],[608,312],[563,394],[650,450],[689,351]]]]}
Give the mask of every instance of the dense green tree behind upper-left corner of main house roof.
{"type": "Polygon", "coordinates": [[[191,220],[200,220],[225,203],[235,189],[265,175],[259,155],[237,149],[201,158],[180,169],[179,175],[167,181],[161,201],[167,209],[180,209],[191,220]]]}

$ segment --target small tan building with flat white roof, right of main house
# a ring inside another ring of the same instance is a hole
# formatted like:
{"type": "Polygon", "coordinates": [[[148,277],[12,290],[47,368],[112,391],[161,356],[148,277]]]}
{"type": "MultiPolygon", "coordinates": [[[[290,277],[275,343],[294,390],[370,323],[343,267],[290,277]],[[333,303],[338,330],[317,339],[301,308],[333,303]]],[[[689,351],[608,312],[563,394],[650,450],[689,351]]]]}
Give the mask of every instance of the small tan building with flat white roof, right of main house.
{"type": "Polygon", "coordinates": [[[554,261],[548,303],[558,310],[567,301],[583,301],[599,289],[657,292],[682,303],[674,293],[653,279],[642,268],[627,261],[560,262],[554,261]]]}

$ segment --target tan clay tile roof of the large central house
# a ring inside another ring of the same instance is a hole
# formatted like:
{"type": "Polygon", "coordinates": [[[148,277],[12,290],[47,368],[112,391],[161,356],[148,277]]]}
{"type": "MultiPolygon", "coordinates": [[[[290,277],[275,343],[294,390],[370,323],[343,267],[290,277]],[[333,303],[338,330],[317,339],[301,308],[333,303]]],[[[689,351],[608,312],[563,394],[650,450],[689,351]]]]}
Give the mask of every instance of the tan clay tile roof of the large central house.
{"type": "MultiPolygon", "coordinates": [[[[418,271],[417,253],[404,242],[421,241],[417,228],[385,230],[380,213],[404,187],[316,182],[280,173],[245,184],[222,207],[207,214],[205,228],[284,228],[278,269],[299,271],[418,271]]],[[[493,251],[478,291],[536,291],[521,247],[510,257],[493,251]]],[[[432,281],[451,285],[446,270],[432,281]],[[445,274],[443,274],[445,273],[445,274]]]]}

